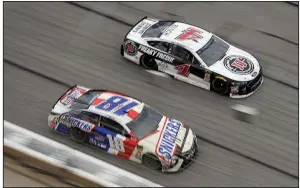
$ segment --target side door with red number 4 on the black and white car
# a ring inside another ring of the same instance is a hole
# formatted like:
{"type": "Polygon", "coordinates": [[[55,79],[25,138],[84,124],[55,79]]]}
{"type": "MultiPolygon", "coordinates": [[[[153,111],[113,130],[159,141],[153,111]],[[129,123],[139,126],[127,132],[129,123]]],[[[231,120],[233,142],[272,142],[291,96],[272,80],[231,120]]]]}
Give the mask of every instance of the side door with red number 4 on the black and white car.
{"type": "Polygon", "coordinates": [[[171,54],[181,59],[176,65],[174,65],[173,70],[171,70],[174,78],[188,82],[190,84],[209,89],[210,74],[201,65],[198,59],[189,50],[173,44],[171,46],[171,54]]]}

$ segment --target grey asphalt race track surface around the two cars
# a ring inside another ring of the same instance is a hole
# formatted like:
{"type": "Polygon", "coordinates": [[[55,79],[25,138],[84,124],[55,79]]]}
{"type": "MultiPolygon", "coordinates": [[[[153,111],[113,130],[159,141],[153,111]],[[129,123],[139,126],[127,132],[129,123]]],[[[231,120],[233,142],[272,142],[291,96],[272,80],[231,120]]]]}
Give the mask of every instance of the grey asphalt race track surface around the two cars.
{"type": "Polygon", "coordinates": [[[164,186],[297,186],[298,74],[298,7],[283,2],[4,3],[4,119],[164,186]],[[126,61],[124,35],[145,15],[186,20],[253,53],[263,86],[231,100],[126,61]],[[73,84],[126,93],[184,121],[200,139],[195,163],[162,174],[52,132],[49,110],[73,84]],[[232,118],[236,103],[260,111],[255,124],[232,118]]]}

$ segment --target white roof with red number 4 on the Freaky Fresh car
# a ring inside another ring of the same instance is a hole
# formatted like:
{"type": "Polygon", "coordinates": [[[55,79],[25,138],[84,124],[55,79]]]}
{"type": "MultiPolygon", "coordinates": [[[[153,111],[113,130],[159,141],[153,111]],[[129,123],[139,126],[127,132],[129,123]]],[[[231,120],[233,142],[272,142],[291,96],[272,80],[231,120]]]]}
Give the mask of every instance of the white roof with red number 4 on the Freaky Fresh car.
{"type": "Polygon", "coordinates": [[[179,43],[187,49],[198,51],[212,37],[212,34],[204,29],[182,22],[175,22],[161,35],[161,39],[172,43],[179,43]]]}

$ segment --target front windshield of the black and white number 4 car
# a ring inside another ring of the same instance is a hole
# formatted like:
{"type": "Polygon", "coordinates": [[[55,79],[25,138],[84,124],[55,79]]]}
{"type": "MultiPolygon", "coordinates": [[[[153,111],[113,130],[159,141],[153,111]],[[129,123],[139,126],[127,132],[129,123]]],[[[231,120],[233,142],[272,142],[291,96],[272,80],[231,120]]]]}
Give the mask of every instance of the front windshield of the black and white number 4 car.
{"type": "Polygon", "coordinates": [[[228,48],[228,44],[213,35],[197,54],[202,58],[206,65],[210,67],[225,56],[228,48]]]}

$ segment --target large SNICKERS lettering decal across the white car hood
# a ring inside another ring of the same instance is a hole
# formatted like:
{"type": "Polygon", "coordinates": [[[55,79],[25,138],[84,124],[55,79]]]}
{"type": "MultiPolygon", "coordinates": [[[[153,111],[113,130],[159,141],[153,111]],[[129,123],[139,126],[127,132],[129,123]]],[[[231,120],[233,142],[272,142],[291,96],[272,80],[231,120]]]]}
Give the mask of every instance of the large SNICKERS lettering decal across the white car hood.
{"type": "MultiPolygon", "coordinates": [[[[177,134],[182,123],[177,120],[169,119],[165,125],[165,129],[160,135],[158,141],[157,153],[166,159],[171,159],[176,149],[177,134]]],[[[181,140],[179,142],[182,142],[181,140]]]]}

